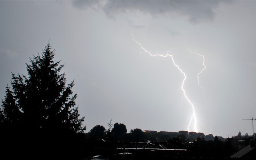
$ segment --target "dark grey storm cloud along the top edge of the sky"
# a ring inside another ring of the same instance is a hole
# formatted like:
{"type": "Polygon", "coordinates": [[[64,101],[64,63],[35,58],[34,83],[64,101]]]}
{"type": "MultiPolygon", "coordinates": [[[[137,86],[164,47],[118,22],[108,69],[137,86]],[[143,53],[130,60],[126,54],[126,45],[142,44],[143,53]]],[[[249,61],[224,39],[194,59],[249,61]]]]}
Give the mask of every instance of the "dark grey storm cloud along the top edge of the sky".
{"type": "MultiPolygon", "coordinates": [[[[109,17],[119,13],[139,11],[152,16],[186,16],[190,23],[201,23],[214,19],[214,9],[223,1],[217,0],[180,0],[180,1],[143,1],[143,0],[113,0],[113,1],[73,1],[77,8],[94,8],[103,10],[109,17]]],[[[226,2],[226,1],[225,1],[226,2]]]]}

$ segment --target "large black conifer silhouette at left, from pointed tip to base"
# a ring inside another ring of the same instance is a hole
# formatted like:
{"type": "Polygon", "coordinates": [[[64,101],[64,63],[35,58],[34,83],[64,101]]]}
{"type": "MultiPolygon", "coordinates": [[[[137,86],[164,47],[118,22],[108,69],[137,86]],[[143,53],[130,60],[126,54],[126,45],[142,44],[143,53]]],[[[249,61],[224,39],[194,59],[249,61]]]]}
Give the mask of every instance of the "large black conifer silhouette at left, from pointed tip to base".
{"type": "Polygon", "coordinates": [[[12,90],[6,87],[0,114],[6,151],[64,156],[66,151],[72,155],[79,150],[74,145],[86,129],[85,117],[80,118],[75,107],[74,80],[66,85],[66,74],[60,73],[64,65],[54,56],[48,43],[41,55],[26,63],[27,76],[12,73],[12,90]]]}

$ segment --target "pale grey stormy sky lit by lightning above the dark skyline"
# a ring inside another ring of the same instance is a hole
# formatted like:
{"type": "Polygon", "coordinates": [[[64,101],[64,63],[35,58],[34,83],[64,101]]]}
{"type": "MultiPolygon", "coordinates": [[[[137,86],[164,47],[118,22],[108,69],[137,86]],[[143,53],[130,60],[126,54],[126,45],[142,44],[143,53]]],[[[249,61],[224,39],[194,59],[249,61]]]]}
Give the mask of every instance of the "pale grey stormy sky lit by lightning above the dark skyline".
{"type": "MultiPolygon", "coordinates": [[[[252,135],[256,1],[0,1],[0,98],[50,39],[85,132],[252,135]]],[[[254,124],[256,122],[254,121],[254,124]]],[[[255,128],[256,130],[256,128],[255,128]]]]}

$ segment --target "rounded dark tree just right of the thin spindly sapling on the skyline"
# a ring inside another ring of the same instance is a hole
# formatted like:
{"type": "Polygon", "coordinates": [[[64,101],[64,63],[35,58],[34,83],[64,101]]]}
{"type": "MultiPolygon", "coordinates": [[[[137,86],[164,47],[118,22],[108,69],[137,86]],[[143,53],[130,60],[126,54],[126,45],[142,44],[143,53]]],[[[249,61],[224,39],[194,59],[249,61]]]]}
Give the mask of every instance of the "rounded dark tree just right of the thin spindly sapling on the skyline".
{"type": "Polygon", "coordinates": [[[116,140],[124,140],[124,137],[126,136],[127,133],[127,129],[126,129],[126,125],[124,125],[123,123],[115,123],[114,127],[112,129],[112,134],[114,139],[116,140]]]}

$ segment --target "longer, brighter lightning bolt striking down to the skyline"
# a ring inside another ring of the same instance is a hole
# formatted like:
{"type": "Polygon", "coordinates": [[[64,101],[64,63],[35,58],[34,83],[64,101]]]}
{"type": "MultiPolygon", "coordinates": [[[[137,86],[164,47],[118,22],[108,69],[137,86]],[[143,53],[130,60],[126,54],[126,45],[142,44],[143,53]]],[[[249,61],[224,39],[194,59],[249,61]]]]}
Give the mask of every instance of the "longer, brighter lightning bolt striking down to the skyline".
{"type": "Polygon", "coordinates": [[[159,55],[159,54],[157,54],[157,55],[152,55],[149,51],[147,51],[144,47],[142,47],[142,45],[138,42],[138,41],[136,41],[135,39],[134,39],[134,35],[133,35],[133,33],[132,33],[132,39],[136,42],[136,43],[138,43],[139,45],[140,45],[140,47],[146,52],[146,53],[148,53],[150,56],[152,56],[152,57],[155,57],[155,56],[160,56],[160,57],[171,57],[171,59],[172,59],[172,62],[173,62],[173,64],[174,64],[174,66],[176,66],[177,68],[178,68],[178,70],[180,70],[180,72],[183,74],[183,76],[184,76],[184,79],[183,79],[183,81],[182,81],[182,86],[181,86],[181,90],[182,90],[182,92],[183,92],[183,94],[184,94],[184,97],[186,98],[186,100],[188,101],[188,103],[190,103],[190,105],[192,106],[192,109],[193,109],[193,113],[192,113],[192,116],[191,116],[191,118],[190,118],[190,121],[189,121],[189,124],[188,124],[188,127],[187,127],[187,129],[188,129],[188,132],[190,132],[190,125],[191,125],[191,123],[192,123],[192,121],[194,120],[194,131],[195,132],[198,132],[198,129],[197,129],[197,117],[196,117],[196,111],[195,111],[195,108],[194,108],[194,105],[192,104],[192,102],[188,99],[188,97],[186,96],[186,92],[185,92],[185,90],[184,90],[184,88],[183,88],[183,86],[184,86],[184,83],[185,83],[185,80],[186,80],[186,74],[180,69],[180,67],[175,63],[175,61],[174,61],[174,59],[173,59],[173,57],[172,57],[172,55],[169,55],[169,52],[172,52],[172,50],[171,51],[167,51],[167,54],[166,55],[159,55]]]}

